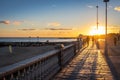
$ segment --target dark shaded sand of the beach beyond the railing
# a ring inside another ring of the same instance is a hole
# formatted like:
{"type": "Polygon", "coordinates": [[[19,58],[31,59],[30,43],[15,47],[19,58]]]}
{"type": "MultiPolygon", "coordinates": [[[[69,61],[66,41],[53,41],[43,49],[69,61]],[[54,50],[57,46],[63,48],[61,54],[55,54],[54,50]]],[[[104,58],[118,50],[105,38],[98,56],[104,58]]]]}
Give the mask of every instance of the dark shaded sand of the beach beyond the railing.
{"type": "Polygon", "coordinates": [[[40,46],[40,47],[12,47],[12,53],[8,47],[0,48],[0,67],[5,67],[19,61],[43,54],[55,49],[55,46],[40,46]]]}

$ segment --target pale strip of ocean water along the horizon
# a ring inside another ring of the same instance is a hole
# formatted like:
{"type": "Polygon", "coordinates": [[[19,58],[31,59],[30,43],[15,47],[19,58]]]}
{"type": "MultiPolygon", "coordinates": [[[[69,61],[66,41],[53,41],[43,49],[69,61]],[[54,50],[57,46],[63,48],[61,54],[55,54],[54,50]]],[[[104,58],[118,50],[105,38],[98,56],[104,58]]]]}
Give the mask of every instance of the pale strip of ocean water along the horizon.
{"type": "Polygon", "coordinates": [[[0,42],[70,42],[76,39],[62,39],[62,38],[0,38],[0,42]]]}

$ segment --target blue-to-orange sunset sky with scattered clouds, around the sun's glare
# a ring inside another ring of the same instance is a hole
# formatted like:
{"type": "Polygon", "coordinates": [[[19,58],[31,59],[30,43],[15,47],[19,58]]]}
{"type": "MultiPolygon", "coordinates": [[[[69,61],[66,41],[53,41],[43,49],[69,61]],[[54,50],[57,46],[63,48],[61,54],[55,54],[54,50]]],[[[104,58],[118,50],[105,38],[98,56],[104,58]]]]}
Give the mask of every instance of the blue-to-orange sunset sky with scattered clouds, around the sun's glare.
{"type": "MultiPolygon", "coordinates": [[[[0,37],[76,37],[105,24],[103,0],[0,0],[0,37]]],[[[120,0],[108,2],[108,32],[120,30],[120,0]]]]}

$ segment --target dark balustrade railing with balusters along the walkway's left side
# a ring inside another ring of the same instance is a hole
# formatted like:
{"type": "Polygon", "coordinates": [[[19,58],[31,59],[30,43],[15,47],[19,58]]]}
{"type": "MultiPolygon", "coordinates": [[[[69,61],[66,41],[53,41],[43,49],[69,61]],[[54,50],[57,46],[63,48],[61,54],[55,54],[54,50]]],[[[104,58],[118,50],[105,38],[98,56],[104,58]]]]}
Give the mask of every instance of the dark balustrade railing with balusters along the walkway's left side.
{"type": "Polygon", "coordinates": [[[76,55],[80,45],[70,44],[0,68],[0,80],[49,80],[76,55]]]}

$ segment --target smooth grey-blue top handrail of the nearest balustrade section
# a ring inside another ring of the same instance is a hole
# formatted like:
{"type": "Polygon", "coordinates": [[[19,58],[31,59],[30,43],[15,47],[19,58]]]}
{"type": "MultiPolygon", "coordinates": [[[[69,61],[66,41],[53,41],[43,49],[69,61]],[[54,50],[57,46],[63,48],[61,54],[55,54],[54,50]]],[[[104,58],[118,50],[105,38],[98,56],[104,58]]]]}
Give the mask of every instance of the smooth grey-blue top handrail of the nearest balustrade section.
{"type": "Polygon", "coordinates": [[[52,55],[56,54],[59,51],[60,50],[52,50],[52,51],[46,52],[44,54],[40,54],[40,55],[37,55],[35,57],[20,61],[18,63],[15,63],[15,64],[12,64],[12,65],[0,68],[0,75],[9,73],[12,70],[20,69],[22,67],[25,67],[26,65],[27,66],[31,65],[31,64],[33,64],[33,63],[35,63],[37,61],[40,61],[40,60],[44,59],[45,57],[52,56],[52,55]]]}

